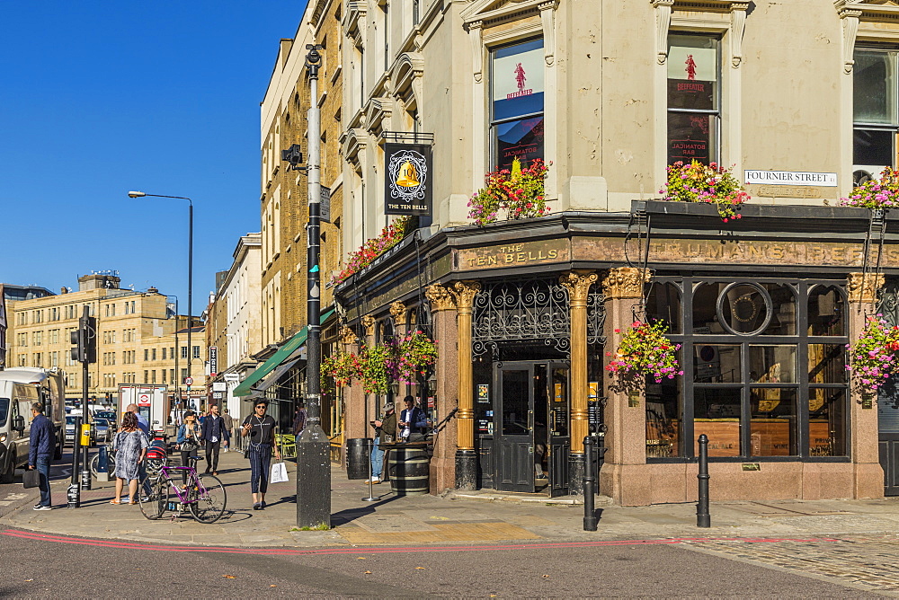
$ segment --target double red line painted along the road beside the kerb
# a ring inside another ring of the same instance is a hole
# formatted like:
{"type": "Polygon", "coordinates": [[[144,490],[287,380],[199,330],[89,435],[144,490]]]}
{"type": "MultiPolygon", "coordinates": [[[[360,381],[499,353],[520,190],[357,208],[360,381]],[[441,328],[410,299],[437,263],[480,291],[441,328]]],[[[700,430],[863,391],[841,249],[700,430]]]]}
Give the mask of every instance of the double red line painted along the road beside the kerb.
{"type": "Polygon", "coordinates": [[[6,529],[0,535],[8,535],[26,540],[40,540],[43,542],[71,543],[85,546],[100,546],[103,548],[120,548],[122,550],[144,550],[161,552],[207,552],[224,554],[266,554],[270,556],[294,556],[294,555],[325,555],[325,554],[383,554],[396,552],[449,552],[449,551],[497,551],[497,550],[539,550],[546,548],[590,548],[602,546],[635,546],[635,545],[661,545],[678,543],[711,543],[711,542],[742,542],[742,543],[779,543],[779,542],[840,542],[836,538],[744,538],[744,537],[678,537],[664,540],[605,540],[597,542],[557,542],[557,543],[516,543],[506,545],[478,545],[478,546],[406,546],[406,547],[367,547],[360,548],[317,548],[310,550],[298,550],[294,548],[235,548],[235,547],[211,547],[211,546],[182,546],[164,544],[144,544],[131,542],[116,542],[112,540],[94,540],[90,538],[68,537],[63,535],[38,534],[35,532],[6,529]]]}

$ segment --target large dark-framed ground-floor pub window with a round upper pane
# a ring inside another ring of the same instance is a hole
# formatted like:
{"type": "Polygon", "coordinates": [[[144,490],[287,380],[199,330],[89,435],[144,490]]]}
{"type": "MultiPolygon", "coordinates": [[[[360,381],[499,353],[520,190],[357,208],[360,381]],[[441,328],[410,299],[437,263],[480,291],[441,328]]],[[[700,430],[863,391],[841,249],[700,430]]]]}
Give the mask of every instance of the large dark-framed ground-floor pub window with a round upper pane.
{"type": "Polygon", "coordinates": [[[836,282],[657,279],[647,318],[682,323],[685,375],[647,381],[647,458],[696,456],[703,433],[712,458],[846,456],[845,303],[836,282]]]}

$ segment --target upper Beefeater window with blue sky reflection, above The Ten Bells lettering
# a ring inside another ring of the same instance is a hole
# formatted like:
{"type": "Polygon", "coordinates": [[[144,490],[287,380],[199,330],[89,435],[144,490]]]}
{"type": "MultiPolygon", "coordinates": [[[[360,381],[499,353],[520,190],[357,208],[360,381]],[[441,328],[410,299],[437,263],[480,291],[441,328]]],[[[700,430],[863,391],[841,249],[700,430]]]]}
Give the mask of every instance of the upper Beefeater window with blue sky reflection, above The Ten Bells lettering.
{"type": "Polygon", "coordinates": [[[543,40],[494,49],[490,61],[491,154],[497,169],[543,158],[543,40]]]}

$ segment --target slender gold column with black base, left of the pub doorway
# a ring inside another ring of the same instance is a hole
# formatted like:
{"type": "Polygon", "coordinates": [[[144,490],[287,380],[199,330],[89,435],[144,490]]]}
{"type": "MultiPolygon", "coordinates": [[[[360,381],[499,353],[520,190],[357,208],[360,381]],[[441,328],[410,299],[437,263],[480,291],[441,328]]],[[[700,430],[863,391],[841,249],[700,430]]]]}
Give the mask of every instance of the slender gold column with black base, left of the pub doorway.
{"type": "Polygon", "coordinates": [[[456,301],[456,331],[458,335],[457,490],[476,490],[477,488],[475,408],[472,397],[471,319],[475,295],[480,289],[481,284],[476,281],[457,281],[450,288],[450,294],[456,301]]]}

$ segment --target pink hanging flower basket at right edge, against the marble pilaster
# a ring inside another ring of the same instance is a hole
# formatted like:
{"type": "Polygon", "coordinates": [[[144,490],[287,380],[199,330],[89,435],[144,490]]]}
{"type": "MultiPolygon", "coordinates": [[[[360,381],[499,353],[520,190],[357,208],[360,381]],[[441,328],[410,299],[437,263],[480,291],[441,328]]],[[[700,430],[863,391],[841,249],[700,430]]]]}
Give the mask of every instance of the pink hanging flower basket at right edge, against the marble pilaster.
{"type": "Polygon", "coordinates": [[[875,393],[896,371],[896,351],[899,350],[899,327],[890,327],[877,313],[869,316],[865,329],[850,349],[850,364],[846,370],[861,393],[875,393]]]}

